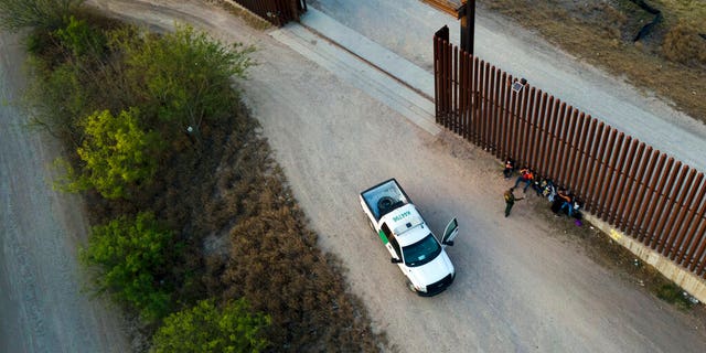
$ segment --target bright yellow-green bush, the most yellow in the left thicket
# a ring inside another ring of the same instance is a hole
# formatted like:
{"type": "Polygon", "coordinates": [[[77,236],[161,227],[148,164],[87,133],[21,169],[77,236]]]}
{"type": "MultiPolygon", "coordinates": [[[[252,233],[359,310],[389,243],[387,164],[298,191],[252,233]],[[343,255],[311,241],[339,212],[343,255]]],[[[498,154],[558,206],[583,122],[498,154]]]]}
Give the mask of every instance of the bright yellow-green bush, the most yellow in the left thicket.
{"type": "Polygon", "coordinates": [[[140,127],[139,115],[130,108],[118,116],[103,110],[86,118],[85,139],[76,150],[85,167],[75,189],[93,186],[106,199],[129,197],[130,186],[149,181],[163,143],[159,133],[140,127]]]}

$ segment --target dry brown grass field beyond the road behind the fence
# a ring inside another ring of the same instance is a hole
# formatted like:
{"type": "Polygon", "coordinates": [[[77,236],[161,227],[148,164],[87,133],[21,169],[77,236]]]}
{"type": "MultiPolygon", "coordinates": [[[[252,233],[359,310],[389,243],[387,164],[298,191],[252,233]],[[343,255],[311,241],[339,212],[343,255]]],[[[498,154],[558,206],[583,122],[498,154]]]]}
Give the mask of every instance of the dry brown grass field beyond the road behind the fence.
{"type": "Polygon", "coordinates": [[[651,34],[633,42],[654,15],[632,1],[480,0],[550,42],[706,122],[706,7],[702,1],[648,1],[663,13],[651,34]]]}

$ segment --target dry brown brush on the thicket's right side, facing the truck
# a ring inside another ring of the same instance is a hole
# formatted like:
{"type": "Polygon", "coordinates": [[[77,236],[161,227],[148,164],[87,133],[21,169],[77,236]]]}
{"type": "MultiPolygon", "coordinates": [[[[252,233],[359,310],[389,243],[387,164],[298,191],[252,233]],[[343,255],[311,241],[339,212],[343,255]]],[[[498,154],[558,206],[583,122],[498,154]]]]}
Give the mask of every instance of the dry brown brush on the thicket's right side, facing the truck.
{"type": "Polygon", "coordinates": [[[317,234],[286,185],[267,142],[250,130],[226,143],[205,203],[208,232],[228,237],[228,256],[208,259],[214,295],[247,298],[272,317],[278,352],[377,351],[360,300],[351,296],[339,260],[323,254],[317,234]],[[224,233],[225,231],[225,233],[224,233]]]}

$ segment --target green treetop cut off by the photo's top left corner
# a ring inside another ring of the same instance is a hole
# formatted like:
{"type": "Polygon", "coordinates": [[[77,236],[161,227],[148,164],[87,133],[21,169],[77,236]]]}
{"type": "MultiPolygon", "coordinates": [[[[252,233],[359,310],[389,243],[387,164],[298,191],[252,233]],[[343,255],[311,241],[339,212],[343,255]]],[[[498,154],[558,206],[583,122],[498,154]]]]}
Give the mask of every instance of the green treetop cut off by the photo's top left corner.
{"type": "Polygon", "coordinates": [[[84,0],[0,0],[0,28],[17,32],[22,28],[55,29],[84,0]]]}

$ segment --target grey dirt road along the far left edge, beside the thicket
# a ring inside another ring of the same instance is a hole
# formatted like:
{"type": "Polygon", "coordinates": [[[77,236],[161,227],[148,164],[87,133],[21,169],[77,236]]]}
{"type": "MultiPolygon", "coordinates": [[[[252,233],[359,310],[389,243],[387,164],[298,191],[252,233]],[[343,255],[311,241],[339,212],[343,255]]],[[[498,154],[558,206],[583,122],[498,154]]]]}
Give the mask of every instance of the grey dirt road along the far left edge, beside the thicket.
{"type": "Polygon", "coordinates": [[[60,146],[28,129],[18,36],[0,33],[0,352],[126,352],[114,308],[82,291],[79,197],[52,190],[60,146]]]}

